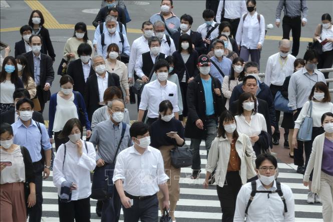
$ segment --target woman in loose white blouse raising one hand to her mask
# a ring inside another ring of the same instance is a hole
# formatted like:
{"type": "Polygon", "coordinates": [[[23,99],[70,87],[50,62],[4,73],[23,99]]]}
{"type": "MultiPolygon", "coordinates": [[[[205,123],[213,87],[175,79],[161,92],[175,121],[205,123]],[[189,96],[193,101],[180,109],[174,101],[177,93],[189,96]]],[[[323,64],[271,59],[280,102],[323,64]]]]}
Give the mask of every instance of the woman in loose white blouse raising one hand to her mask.
{"type": "Polygon", "coordinates": [[[90,221],[90,171],[96,167],[96,152],[91,142],[82,140],[83,128],[77,118],[66,122],[60,137],[62,144],[53,165],[53,183],[58,188],[60,221],[90,221]],[[71,195],[65,197],[62,187],[70,186],[71,195]]]}

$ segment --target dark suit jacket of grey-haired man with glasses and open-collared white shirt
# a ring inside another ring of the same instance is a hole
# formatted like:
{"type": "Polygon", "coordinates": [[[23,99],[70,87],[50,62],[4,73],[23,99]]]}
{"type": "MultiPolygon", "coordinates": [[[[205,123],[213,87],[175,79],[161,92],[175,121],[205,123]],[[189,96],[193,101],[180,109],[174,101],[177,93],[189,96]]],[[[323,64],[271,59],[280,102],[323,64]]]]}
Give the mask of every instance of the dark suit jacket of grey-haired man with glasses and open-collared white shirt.
{"type": "MultiPolygon", "coordinates": [[[[120,90],[120,81],[119,76],[115,73],[107,72],[108,76],[108,87],[117,86],[120,90]]],[[[86,82],[86,90],[85,90],[85,103],[87,106],[88,119],[91,122],[93,117],[93,113],[97,110],[100,105],[100,93],[98,90],[98,82],[96,74],[91,75],[86,82]]]]}

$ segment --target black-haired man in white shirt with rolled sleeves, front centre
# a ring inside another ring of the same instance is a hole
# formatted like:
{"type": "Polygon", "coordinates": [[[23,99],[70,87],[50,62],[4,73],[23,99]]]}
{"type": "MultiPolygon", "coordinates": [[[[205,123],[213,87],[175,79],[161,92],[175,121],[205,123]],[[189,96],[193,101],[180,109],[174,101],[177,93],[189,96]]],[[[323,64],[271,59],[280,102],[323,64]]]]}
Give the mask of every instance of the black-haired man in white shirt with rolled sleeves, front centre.
{"type": "Polygon", "coordinates": [[[161,152],[150,144],[149,127],[135,122],[130,128],[134,145],[117,156],[113,182],[123,204],[124,221],[157,221],[161,190],[163,208],[169,209],[169,191],[161,152]]]}

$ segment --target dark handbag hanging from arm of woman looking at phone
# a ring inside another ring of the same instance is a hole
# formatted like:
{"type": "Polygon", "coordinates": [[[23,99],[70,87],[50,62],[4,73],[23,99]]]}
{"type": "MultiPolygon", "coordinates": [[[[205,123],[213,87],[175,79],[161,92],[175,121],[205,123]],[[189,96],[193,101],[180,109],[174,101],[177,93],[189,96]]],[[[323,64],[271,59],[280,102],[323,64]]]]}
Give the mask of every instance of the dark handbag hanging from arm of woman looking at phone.
{"type": "Polygon", "coordinates": [[[182,147],[176,146],[170,150],[171,165],[175,168],[187,167],[192,165],[192,150],[184,144],[182,147]]]}

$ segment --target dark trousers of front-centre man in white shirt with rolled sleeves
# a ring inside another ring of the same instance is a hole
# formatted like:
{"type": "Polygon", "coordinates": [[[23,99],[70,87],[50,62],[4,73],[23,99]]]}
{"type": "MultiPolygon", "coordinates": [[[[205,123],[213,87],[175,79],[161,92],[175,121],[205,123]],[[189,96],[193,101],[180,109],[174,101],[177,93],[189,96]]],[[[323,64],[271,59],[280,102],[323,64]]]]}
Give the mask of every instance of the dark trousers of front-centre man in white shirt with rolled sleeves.
{"type": "Polygon", "coordinates": [[[133,199],[133,206],[123,206],[124,222],[155,222],[158,221],[158,199],[153,195],[147,199],[133,199]]]}

